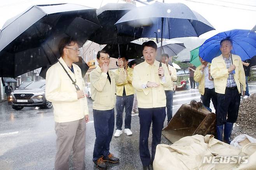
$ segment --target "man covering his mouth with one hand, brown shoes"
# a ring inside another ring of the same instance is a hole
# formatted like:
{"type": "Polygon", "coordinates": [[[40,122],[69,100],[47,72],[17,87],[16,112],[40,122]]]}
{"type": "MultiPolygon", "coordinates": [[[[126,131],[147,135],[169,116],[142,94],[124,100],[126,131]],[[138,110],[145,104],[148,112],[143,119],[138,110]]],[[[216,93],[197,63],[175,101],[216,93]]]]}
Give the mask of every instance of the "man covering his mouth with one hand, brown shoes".
{"type": "Polygon", "coordinates": [[[93,99],[93,120],[95,128],[95,144],[93,162],[96,167],[106,169],[105,161],[119,162],[109,152],[109,145],[114,132],[114,106],[116,104],[116,83],[126,81],[126,72],[122,59],[118,60],[119,74],[109,70],[110,56],[105,50],[97,54],[98,66],[90,73],[91,99],[93,99]]]}

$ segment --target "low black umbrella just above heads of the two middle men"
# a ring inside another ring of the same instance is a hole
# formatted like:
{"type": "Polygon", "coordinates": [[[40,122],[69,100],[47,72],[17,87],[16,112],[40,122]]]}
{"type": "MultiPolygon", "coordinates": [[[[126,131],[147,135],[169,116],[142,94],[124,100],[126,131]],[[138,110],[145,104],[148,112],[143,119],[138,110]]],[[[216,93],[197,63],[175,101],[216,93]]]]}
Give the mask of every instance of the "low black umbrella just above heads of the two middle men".
{"type": "Polygon", "coordinates": [[[107,44],[103,50],[106,50],[110,57],[119,58],[125,57],[126,59],[135,59],[142,57],[142,43],[138,40],[134,40],[133,42],[120,44],[107,44]],[[119,49],[118,49],[119,48],[119,49]]]}

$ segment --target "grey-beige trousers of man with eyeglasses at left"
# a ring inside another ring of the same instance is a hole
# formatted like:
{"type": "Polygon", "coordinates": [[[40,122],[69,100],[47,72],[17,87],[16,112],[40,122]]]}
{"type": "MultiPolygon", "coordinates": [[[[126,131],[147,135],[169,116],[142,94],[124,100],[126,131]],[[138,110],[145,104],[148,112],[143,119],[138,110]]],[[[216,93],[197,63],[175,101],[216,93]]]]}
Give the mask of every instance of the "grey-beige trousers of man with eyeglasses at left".
{"type": "Polygon", "coordinates": [[[74,170],[84,170],[85,130],[85,118],[64,123],[55,122],[57,153],[54,170],[69,169],[68,159],[72,149],[74,170]]]}

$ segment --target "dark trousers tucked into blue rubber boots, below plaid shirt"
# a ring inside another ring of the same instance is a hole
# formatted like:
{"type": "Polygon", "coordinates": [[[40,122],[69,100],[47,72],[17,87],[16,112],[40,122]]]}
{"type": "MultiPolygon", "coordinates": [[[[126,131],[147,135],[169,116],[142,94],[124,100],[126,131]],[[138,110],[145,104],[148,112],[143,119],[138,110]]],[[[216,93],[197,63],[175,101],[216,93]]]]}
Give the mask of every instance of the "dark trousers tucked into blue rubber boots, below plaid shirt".
{"type": "Polygon", "coordinates": [[[237,121],[240,105],[240,94],[237,88],[226,88],[225,94],[217,93],[217,126],[224,125],[226,122],[235,123],[237,121]],[[228,119],[226,119],[228,114],[228,119]]]}

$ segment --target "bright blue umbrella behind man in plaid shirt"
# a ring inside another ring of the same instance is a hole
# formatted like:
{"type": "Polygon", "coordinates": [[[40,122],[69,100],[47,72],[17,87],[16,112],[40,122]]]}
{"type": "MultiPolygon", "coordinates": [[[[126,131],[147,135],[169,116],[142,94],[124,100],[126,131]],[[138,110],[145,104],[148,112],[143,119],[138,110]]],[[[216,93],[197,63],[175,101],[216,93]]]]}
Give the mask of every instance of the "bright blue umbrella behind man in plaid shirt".
{"type": "Polygon", "coordinates": [[[199,47],[199,56],[205,61],[212,62],[214,57],[221,55],[219,43],[224,38],[232,40],[233,49],[231,53],[240,56],[242,61],[255,56],[256,33],[243,29],[233,29],[212,36],[199,47]]]}

